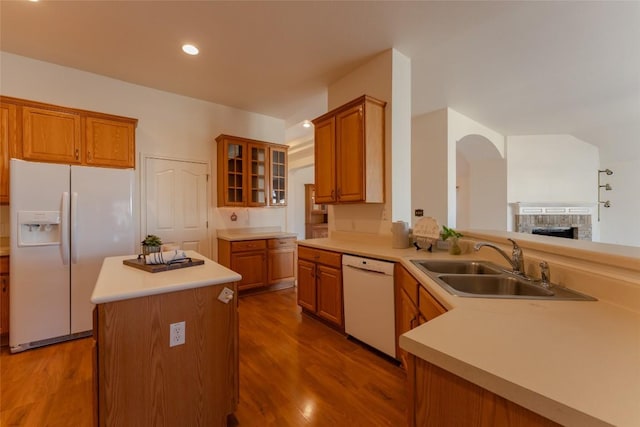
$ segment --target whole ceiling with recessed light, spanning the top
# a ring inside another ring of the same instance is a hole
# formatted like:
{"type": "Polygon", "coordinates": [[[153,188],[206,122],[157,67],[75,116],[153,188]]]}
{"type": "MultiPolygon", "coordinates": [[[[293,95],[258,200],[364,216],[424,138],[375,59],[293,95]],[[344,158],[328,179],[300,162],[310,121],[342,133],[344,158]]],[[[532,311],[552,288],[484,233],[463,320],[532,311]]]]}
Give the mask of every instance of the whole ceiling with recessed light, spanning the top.
{"type": "Polygon", "coordinates": [[[506,135],[640,157],[636,1],[0,3],[3,51],[287,126],[324,113],[327,85],[389,48],[411,58],[414,116],[448,106],[506,135]]]}

